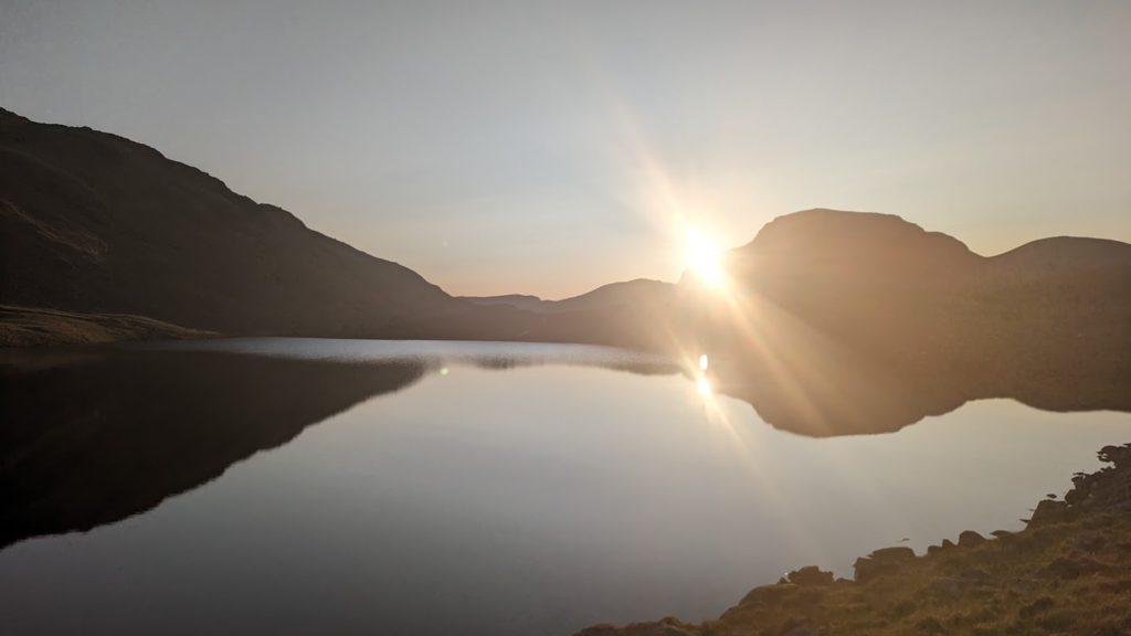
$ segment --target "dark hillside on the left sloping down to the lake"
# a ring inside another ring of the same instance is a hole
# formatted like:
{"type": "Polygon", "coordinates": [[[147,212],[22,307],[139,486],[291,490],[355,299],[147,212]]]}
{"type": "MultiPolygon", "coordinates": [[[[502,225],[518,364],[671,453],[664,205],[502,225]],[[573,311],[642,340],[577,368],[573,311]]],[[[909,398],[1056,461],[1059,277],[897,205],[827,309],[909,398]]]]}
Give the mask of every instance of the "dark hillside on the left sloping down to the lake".
{"type": "Polygon", "coordinates": [[[510,337],[456,300],[157,151],[0,110],[0,303],[225,334],[510,337]]]}

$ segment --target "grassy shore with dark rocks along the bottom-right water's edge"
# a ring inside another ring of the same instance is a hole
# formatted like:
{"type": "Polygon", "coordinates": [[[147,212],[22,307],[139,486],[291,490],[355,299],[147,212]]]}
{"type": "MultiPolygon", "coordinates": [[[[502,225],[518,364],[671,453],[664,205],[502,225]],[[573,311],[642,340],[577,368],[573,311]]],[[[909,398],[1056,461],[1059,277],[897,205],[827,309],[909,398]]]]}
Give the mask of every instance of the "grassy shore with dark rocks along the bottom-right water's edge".
{"type": "Polygon", "coordinates": [[[854,579],[814,566],[752,590],[716,620],[675,618],[577,636],[1131,634],[1131,444],[1037,504],[1021,532],[962,532],[925,555],[884,548],[854,579]]]}

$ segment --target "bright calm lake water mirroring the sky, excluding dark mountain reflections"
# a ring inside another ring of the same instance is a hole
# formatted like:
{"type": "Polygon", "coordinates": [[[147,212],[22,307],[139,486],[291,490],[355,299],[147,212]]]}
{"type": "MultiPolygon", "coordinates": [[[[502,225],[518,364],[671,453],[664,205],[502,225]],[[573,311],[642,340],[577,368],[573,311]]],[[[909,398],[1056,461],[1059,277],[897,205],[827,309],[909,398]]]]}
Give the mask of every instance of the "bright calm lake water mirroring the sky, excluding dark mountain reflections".
{"type": "Polygon", "coordinates": [[[1011,401],[805,438],[599,347],[273,338],[155,354],[184,349],[422,371],[148,512],[8,545],[0,633],[566,635],[707,618],[802,565],[851,575],[904,538],[922,551],[1018,530],[1131,438],[1124,413],[1011,401]]]}

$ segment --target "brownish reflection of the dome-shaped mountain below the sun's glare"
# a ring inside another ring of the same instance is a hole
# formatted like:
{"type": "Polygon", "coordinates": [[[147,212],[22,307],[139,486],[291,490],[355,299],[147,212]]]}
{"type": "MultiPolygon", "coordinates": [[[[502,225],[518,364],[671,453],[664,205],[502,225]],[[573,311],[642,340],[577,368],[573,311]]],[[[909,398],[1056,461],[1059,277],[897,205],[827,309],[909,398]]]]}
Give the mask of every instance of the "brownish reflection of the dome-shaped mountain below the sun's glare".
{"type": "Polygon", "coordinates": [[[775,428],[811,437],[893,432],[995,397],[1045,411],[1131,412],[1131,373],[1103,364],[1078,367],[1064,378],[1024,366],[956,376],[909,371],[818,334],[766,349],[757,358],[713,362],[716,392],[750,403],[775,428]]]}

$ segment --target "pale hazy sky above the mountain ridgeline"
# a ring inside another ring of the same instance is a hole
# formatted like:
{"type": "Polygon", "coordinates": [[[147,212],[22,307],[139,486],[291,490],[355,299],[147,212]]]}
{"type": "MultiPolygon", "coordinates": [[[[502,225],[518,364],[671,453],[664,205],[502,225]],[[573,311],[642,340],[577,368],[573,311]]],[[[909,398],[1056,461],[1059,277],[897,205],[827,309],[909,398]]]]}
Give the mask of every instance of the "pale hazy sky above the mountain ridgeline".
{"type": "Polygon", "coordinates": [[[454,293],[675,280],[809,207],[1131,241],[1131,2],[0,0],[0,105],[454,293]]]}

